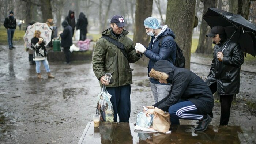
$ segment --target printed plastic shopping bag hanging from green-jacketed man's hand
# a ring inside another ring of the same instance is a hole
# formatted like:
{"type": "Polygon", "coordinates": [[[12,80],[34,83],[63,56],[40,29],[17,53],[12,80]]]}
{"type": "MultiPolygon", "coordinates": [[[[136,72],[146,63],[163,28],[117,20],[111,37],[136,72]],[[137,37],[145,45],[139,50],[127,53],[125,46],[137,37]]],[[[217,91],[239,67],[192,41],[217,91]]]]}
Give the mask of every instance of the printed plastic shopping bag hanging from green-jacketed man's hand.
{"type": "Polygon", "coordinates": [[[96,114],[101,115],[101,122],[114,122],[114,109],[110,101],[111,95],[105,85],[101,88],[97,96],[96,114]]]}

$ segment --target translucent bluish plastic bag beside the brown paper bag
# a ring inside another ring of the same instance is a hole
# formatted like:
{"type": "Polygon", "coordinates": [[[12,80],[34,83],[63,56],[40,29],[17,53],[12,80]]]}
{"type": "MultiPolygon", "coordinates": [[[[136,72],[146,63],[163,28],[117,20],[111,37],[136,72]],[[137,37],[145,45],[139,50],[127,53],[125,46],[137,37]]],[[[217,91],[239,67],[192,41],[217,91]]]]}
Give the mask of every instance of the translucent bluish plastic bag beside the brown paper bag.
{"type": "Polygon", "coordinates": [[[139,112],[137,114],[137,122],[136,125],[141,126],[142,128],[148,129],[153,121],[152,114],[150,114],[148,117],[146,116],[146,113],[144,112],[139,112]]]}

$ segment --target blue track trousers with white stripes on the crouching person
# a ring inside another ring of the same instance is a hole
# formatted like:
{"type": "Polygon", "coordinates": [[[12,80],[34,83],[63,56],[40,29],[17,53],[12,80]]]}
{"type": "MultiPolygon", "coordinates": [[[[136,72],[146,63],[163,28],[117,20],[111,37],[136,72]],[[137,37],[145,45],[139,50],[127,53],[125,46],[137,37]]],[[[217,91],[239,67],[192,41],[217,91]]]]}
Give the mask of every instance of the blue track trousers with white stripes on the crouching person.
{"type": "Polygon", "coordinates": [[[169,107],[171,124],[180,124],[179,119],[201,120],[204,114],[199,114],[196,106],[188,100],[179,100],[169,107]]]}

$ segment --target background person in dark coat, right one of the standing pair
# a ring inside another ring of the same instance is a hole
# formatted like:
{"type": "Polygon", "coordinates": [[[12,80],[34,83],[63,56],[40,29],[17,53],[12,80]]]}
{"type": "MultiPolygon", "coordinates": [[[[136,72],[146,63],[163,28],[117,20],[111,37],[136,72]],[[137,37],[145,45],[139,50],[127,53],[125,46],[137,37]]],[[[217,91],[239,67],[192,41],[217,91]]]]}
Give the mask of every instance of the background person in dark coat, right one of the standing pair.
{"type": "Polygon", "coordinates": [[[84,13],[81,12],[76,23],[76,30],[80,30],[80,41],[84,41],[86,39],[87,25],[87,18],[85,17],[84,13]]]}

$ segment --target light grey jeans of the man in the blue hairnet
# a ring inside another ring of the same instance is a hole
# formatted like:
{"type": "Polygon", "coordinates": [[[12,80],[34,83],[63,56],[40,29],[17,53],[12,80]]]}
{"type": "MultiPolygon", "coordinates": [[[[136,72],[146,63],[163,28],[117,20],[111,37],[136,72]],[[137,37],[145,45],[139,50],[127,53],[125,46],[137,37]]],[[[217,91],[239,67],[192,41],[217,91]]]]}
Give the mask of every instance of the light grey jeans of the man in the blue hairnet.
{"type": "Polygon", "coordinates": [[[150,82],[152,94],[154,96],[155,103],[161,101],[167,95],[171,89],[171,85],[155,84],[150,82]]]}

